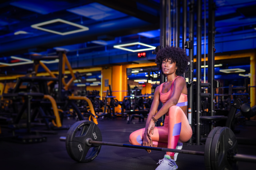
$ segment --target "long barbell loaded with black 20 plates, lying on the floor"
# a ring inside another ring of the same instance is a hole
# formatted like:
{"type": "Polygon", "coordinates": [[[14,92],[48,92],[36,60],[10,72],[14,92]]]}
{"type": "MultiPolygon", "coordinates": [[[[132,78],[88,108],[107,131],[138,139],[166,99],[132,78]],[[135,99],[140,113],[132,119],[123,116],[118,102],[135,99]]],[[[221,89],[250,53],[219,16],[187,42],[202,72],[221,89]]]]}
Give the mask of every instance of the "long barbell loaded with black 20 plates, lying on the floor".
{"type": "Polygon", "coordinates": [[[228,127],[215,127],[211,130],[206,139],[204,152],[102,142],[99,127],[91,121],[78,121],[74,123],[68,130],[67,137],[60,137],[60,140],[66,141],[68,155],[77,162],[92,161],[99,155],[102,145],[110,145],[202,155],[204,156],[204,163],[207,170],[236,169],[237,161],[256,163],[256,156],[237,153],[238,144],[235,134],[228,127]]]}

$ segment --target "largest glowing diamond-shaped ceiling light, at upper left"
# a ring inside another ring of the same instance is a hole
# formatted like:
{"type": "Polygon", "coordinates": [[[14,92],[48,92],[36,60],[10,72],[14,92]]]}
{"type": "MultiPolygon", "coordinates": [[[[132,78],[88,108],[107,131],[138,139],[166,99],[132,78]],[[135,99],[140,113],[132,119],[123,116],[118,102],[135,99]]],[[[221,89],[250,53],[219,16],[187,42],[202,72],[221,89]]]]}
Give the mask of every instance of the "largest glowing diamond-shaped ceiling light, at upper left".
{"type": "Polygon", "coordinates": [[[59,35],[68,35],[68,34],[72,34],[72,33],[79,33],[79,32],[83,32],[83,31],[88,31],[89,30],[89,28],[86,27],[86,26],[82,26],[82,25],[79,25],[79,24],[76,24],[76,23],[73,23],[73,22],[69,22],[69,21],[63,20],[63,19],[53,19],[53,20],[50,20],[50,21],[41,22],[39,24],[31,25],[31,27],[35,28],[35,29],[42,30],[42,31],[59,34],[59,35]],[[58,32],[58,31],[54,31],[54,30],[50,30],[50,29],[46,29],[46,28],[40,27],[40,26],[44,26],[44,25],[48,25],[48,24],[52,24],[52,23],[56,23],[56,22],[62,22],[64,24],[75,26],[75,27],[78,27],[80,29],[62,33],[62,32],[58,32]]]}

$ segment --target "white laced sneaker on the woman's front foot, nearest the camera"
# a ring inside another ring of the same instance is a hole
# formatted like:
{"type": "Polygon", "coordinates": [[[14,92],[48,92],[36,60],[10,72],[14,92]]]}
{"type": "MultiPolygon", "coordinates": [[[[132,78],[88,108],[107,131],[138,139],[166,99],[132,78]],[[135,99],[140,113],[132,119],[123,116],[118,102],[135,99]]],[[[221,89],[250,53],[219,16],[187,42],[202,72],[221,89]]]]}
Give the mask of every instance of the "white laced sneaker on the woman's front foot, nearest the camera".
{"type": "Polygon", "coordinates": [[[171,159],[169,155],[164,155],[164,159],[159,160],[157,163],[159,166],[157,166],[156,170],[176,170],[178,169],[178,166],[176,165],[175,161],[171,159]]]}

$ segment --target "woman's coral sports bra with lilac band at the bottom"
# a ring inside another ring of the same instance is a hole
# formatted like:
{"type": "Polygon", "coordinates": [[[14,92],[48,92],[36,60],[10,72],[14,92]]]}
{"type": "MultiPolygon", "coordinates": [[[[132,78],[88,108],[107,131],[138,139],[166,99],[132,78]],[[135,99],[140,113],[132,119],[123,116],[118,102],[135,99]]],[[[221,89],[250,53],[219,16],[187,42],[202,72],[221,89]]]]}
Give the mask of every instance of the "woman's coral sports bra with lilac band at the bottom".
{"type": "MultiPolygon", "coordinates": [[[[177,77],[180,77],[180,76],[177,76],[177,77]]],[[[176,77],[176,78],[177,78],[177,77],[176,77]]],[[[175,78],[175,79],[176,79],[176,78],[175,78]]],[[[174,80],[175,80],[175,79],[174,79],[174,80]]],[[[172,86],[173,86],[174,80],[172,81],[172,86]]],[[[164,83],[165,83],[165,82],[164,82],[164,83]]],[[[162,89],[163,89],[163,84],[164,84],[164,83],[162,83],[162,84],[160,85],[160,89],[159,89],[159,91],[160,91],[160,101],[161,101],[163,104],[164,104],[167,100],[169,100],[169,99],[172,97],[172,94],[171,94],[172,86],[171,86],[171,89],[169,90],[169,92],[167,92],[167,93],[162,93],[162,89]]],[[[181,107],[181,106],[188,106],[188,95],[181,93],[180,99],[179,99],[179,101],[178,101],[178,103],[177,103],[176,106],[179,106],[179,107],[181,107]]]]}

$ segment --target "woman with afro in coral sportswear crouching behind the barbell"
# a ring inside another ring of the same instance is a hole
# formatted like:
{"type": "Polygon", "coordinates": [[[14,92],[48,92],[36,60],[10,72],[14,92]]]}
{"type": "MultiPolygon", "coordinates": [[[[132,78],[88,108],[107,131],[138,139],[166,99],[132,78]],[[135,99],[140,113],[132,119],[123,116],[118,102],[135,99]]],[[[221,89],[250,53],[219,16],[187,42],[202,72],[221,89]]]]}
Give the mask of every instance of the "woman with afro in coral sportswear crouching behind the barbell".
{"type": "MultiPolygon", "coordinates": [[[[186,81],[180,77],[186,71],[188,57],[181,48],[165,47],[156,54],[156,64],[165,74],[167,81],[156,87],[146,127],[133,132],[129,141],[134,145],[181,149],[182,143],[187,142],[192,136],[187,119],[186,81]],[[159,101],[164,105],[156,113],[159,101]],[[155,122],[164,114],[164,126],[155,127],[155,122]]],[[[178,169],[175,158],[173,152],[166,152],[164,159],[159,160],[156,170],[178,169]]]]}

